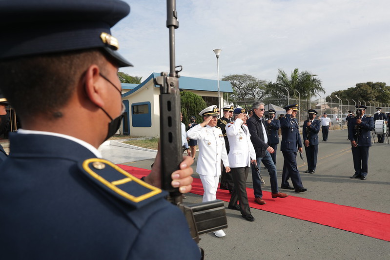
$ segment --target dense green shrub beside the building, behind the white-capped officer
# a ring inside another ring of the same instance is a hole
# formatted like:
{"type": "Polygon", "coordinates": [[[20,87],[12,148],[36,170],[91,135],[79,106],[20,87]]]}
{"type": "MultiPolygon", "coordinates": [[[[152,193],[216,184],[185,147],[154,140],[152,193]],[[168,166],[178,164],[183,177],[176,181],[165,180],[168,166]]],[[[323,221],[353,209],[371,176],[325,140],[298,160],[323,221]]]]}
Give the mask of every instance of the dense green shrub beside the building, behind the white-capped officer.
{"type": "Polygon", "coordinates": [[[196,117],[198,123],[203,122],[203,118],[199,115],[199,112],[206,108],[206,102],[201,96],[189,91],[180,92],[180,104],[182,107],[183,123],[186,127],[188,126],[189,118],[192,116],[196,117]]]}

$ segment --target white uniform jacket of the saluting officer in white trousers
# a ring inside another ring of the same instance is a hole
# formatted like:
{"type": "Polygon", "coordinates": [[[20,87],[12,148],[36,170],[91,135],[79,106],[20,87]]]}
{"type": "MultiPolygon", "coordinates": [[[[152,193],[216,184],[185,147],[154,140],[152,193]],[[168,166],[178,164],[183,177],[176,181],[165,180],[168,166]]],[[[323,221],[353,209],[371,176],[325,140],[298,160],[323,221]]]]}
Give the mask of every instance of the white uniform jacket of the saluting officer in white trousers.
{"type": "Polygon", "coordinates": [[[225,139],[220,128],[201,124],[187,131],[187,137],[198,140],[199,156],[196,172],[207,176],[221,175],[221,160],[225,167],[229,166],[225,139]]]}

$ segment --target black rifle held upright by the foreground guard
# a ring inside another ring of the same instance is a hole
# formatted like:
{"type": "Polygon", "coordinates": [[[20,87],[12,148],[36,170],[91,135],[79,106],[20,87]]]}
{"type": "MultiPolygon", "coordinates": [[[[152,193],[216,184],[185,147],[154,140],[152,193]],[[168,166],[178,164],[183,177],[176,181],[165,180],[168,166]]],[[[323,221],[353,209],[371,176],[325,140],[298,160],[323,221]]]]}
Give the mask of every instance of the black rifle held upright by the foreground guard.
{"type": "Polygon", "coordinates": [[[182,66],[175,66],[175,29],[177,20],[176,0],[167,0],[166,27],[169,29],[169,75],[162,72],[154,80],[160,85],[160,142],[161,142],[161,187],[169,192],[167,200],[177,205],[187,219],[192,238],[199,242],[199,235],[227,227],[226,212],[222,200],[193,204],[183,204],[182,194],[178,188],[171,186],[171,174],[179,169],[183,160],[179,75],[182,66]],[[180,70],[176,70],[179,68],[180,70]]]}

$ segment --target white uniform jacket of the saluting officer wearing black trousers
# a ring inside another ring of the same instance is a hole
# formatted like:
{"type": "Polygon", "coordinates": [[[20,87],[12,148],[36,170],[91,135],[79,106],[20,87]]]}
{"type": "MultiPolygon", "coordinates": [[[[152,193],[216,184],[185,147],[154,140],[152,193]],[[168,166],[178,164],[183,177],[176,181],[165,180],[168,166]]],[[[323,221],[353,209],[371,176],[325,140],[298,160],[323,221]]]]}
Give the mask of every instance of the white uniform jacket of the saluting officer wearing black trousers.
{"type": "Polygon", "coordinates": [[[226,135],[230,145],[227,157],[232,168],[250,166],[250,159],[256,160],[256,152],[250,140],[249,129],[243,123],[243,120],[238,118],[226,125],[226,135]]]}

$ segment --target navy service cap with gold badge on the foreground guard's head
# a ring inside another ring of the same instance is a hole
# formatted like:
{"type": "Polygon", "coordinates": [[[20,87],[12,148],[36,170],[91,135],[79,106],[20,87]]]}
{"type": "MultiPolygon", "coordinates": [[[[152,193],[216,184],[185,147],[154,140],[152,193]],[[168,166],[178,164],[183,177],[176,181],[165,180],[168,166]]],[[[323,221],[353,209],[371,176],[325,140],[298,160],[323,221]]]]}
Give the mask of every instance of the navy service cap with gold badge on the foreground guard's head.
{"type": "Polygon", "coordinates": [[[120,0],[0,0],[0,60],[101,48],[119,67],[132,66],[110,31],[129,12],[120,0]]]}

